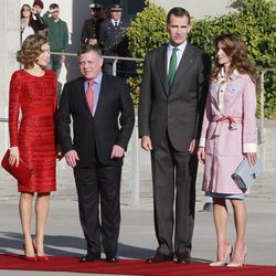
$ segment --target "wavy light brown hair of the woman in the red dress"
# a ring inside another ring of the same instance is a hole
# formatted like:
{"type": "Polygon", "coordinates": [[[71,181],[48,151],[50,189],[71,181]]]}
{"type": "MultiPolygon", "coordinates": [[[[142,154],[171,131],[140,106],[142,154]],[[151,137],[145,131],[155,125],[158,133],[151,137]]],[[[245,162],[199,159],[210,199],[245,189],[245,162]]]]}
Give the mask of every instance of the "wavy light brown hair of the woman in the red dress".
{"type": "Polygon", "coordinates": [[[22,63],[25,68],[32,68],[36,59],[43,53],[41,47],[45,43],[47,43],[47,40],[39,34],[29,35],[17,53],[18,62],[22,63]]]}

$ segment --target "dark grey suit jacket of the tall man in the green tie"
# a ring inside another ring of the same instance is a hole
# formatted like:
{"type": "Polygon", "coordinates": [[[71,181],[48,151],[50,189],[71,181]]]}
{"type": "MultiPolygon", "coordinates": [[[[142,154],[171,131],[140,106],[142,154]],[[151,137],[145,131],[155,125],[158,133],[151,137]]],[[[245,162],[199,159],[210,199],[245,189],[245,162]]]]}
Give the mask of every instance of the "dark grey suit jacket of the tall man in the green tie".
{"type": "Polygon", "coordinates": [[[146,55],[139,99],[139,137],[150,136],[158,148],[168,129],[176,150],[187,151],[200,129],[209,86],[211,62],[200,49],[187,44],[171,89],[167,77],[167,49],[146,55]]]}

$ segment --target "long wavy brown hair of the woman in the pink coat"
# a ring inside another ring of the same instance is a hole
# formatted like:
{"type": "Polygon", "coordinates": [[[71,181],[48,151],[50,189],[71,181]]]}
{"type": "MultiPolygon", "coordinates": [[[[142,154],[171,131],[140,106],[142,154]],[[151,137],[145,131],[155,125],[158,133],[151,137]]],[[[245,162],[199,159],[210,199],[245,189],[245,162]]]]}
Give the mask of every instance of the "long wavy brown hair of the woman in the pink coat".
{"type": "MultiPolygon", "coordinates": [[[[242,38],[235,33],[221,34],[214,40],[214,47],[219,50],[219,43],[222,44],[223,52],[230,57],[230,74],[237,70],[241,74],[248,74],[252,81],[256,84],[256,68],[248,60],[245,44],[242,38]]],[[[215,57],[215,68],[213,77],[216,78],[223,64],[219,64],[215,57]]]]}

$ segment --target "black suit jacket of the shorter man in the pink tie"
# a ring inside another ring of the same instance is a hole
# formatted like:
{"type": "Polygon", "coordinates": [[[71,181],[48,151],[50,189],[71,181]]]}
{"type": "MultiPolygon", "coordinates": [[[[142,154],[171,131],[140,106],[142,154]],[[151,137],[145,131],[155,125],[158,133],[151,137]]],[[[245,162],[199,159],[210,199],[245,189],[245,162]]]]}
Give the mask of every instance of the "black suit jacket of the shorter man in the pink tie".
{"type": "Polygon", "coordinates": [[[59,136],[63,152],[75,149],[79,161],[77,168],[93,166],[94,148],[103,164],[121,166],[121,159],[110,159],[114,145],[127,150],[132,132],[134,105],[125,81],[103,75],[99,99],[94,117],[84,91],[84,78],[64,85],[59,108],[59,136]],[[73,118],[74,138],[70,134],[73,118]],[[95,145],[95,147],[94,147],[95,145]]]}

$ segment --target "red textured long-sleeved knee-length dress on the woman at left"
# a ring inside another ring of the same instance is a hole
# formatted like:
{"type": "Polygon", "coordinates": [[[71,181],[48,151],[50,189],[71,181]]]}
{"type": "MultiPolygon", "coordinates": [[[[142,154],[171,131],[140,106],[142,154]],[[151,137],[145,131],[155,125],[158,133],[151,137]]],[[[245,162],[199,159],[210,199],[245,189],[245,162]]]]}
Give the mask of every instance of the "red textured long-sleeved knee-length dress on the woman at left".
{"type": "Polygon", "coordinates": [[[19,192],[51,192],[55,182],[56,75],[45,70],[33,76],[24,70],[12,74],[9,100],[10,146],[18,146],[20,158],[34,169],[28,184],[19,192]],[[19,125],[19,115],[22,119],[19,125]]]}

